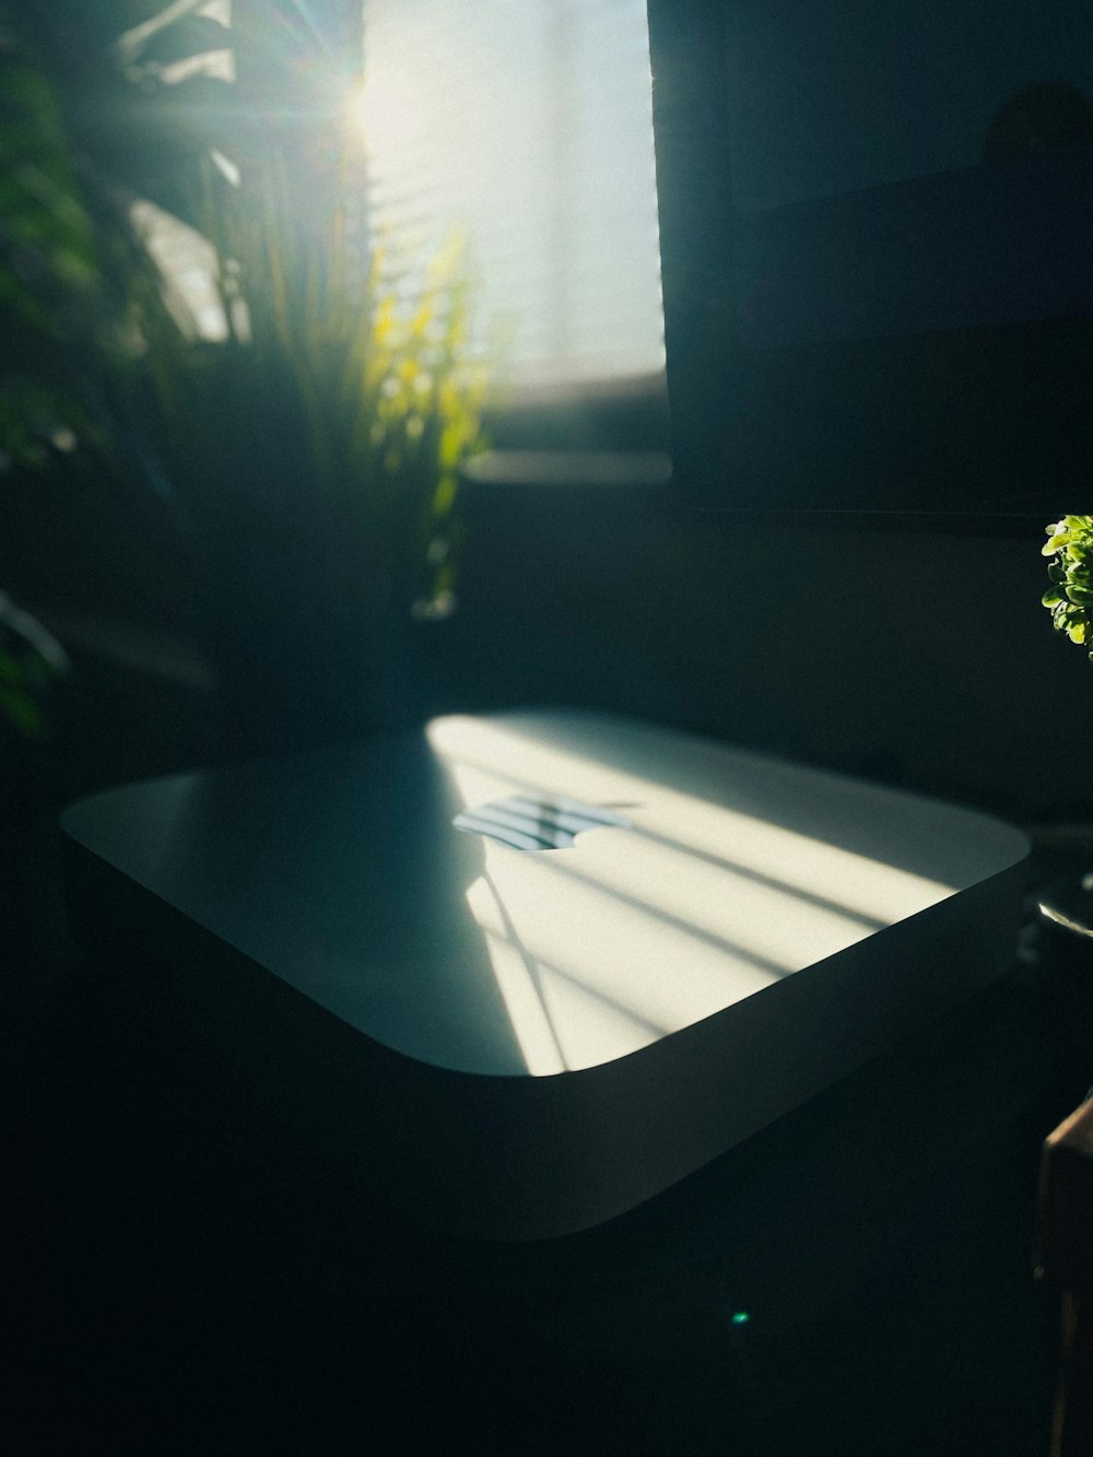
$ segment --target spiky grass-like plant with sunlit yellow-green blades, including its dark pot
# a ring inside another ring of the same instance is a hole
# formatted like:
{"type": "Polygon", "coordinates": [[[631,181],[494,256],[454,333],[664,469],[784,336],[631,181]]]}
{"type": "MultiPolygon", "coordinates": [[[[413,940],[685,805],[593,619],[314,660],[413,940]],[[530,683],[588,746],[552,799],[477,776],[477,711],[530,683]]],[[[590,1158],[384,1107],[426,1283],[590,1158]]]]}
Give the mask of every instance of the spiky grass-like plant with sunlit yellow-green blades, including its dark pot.
{"type": "Polygon", "coordinates": [[[256,211],[219,208],[224,337],[169,361],[152,411],[156,457],[187,482],[235,746],[412,711],[412,643],[455,600],[459,468],[485,390],[459,248],[420,267],[376,248],[361,267],[337,226],[329,246],[297,229],[287,197],[271,169],[256,211]]]}

